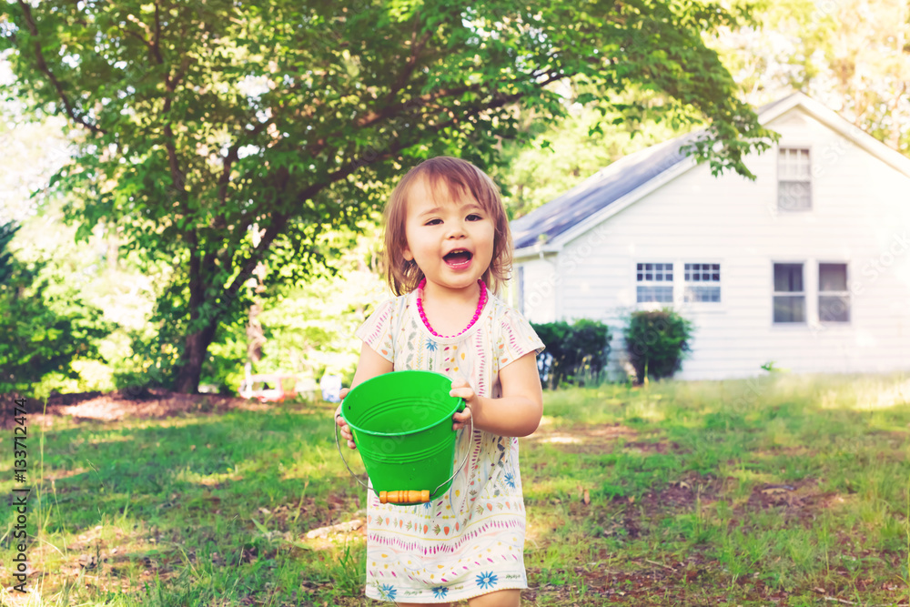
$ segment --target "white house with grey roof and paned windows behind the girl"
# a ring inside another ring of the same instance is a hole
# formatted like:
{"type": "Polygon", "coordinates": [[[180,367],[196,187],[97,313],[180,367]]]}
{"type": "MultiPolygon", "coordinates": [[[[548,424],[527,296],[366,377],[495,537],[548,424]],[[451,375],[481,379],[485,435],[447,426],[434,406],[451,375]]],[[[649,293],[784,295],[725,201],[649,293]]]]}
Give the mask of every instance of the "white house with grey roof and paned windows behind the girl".
{"type": "Polygon", "coordinates": [[[532,322],[612,327],[672,306],[694,324],[678,379],[910,369],[910,158],[796,93],[758,110],[781,134],[713,177],[685,137],[605,167],[512,222],[511,298],[532,322]]]}

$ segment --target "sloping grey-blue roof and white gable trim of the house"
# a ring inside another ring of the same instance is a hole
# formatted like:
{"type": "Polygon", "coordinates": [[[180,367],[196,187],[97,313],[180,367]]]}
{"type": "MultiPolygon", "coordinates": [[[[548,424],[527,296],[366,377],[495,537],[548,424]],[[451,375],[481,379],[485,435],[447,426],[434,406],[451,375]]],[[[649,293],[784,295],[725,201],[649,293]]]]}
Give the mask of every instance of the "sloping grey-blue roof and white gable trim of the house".
{"type": "MultiPolygon", "coordinates": [[[[910,177],[910,158],[865,134],[802,93],[761,106],[756,114],[759,123],[765,125],[796,106],[910,177]]],[[[562,244],[579,236],[581,231],[590,229],[672,177],[694,167],[693,157],[687,157],[679,150],[703,133],[703,130],[695,131],[622,157],[561,196],[515,219],[511,222],[515,257],[559,250],[562,244]]]]}

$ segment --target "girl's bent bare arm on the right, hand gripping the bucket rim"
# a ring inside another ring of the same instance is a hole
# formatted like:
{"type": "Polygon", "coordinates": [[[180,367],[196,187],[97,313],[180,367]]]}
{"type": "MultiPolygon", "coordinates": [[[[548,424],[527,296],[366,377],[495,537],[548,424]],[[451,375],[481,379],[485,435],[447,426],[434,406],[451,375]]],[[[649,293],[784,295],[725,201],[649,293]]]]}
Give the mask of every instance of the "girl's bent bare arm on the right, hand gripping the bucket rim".
{"type": "Polygon", "coordinates": [[[451,396],[460,396],[468,410],[456,413],[455,430],[468,425],[474,418],[474,428],[501,436],[530,436],[541,425],[543,389],[537,372],[537,353],[528,352],[520,359],[500,369],[502,397],[479,397],[464,379],[452,382],[451,396]]]}

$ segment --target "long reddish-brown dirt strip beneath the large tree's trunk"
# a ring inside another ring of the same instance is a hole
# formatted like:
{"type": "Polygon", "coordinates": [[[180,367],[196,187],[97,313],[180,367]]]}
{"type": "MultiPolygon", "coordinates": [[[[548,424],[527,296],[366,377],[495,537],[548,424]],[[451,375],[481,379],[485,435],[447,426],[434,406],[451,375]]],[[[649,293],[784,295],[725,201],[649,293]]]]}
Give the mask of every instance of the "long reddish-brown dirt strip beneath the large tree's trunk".
{"type": "MultiPolygon", "coordinates": [[[[162,419],[187,413],[223,413],[237,409],[269,410],[275,405],[217,394],[180,394],[153,388],[142,391],[57,394],[47,399],[43,413],[42,407],[40,402],[27,400],[26,410],[30,423],[48,426],[55,418],[70,418],[76,421],[162,419]]],[[[15,423],[12,414],[5,416],[2,423],[7,427],[15,423]]]]}

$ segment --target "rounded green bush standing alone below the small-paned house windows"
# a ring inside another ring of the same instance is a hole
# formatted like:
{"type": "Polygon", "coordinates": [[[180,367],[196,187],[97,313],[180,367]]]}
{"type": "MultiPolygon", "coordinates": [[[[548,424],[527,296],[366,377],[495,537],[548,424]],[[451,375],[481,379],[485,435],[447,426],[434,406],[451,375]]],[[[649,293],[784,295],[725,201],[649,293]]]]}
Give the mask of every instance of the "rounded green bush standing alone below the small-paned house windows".
{"type": "Polygon", "coordinates": [[[624,330],[626,351],[638,383],[669,378],[682,367],[691,351],[693,324],[672,309],[633,312],[624,330]]]}

